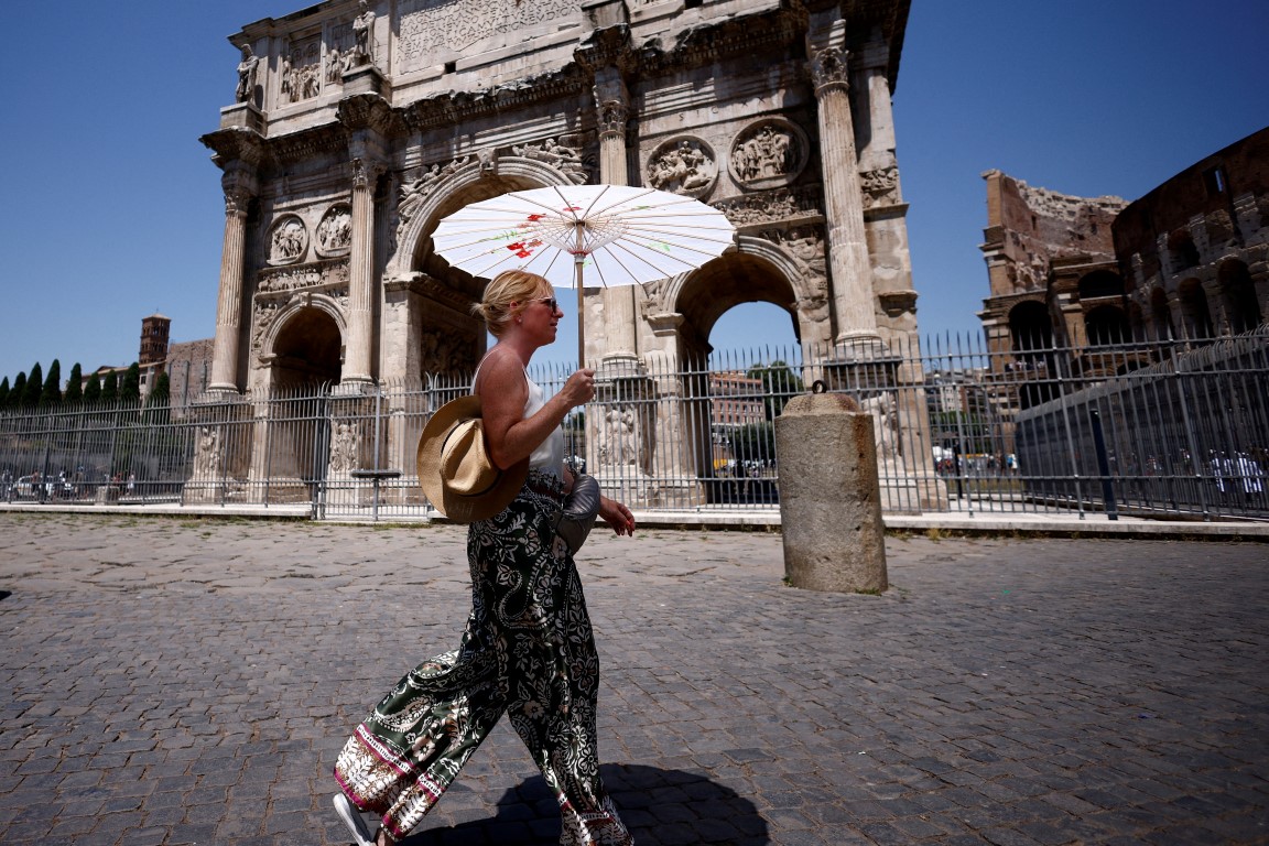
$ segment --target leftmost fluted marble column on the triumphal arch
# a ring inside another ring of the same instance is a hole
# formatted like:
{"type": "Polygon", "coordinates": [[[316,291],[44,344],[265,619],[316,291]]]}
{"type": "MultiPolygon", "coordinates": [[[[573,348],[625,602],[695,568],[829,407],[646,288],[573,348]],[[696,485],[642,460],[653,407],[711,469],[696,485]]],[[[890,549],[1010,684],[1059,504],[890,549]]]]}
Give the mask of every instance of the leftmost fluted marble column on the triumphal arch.
{"type": "Polygon", "coordinates": [[[216,339],[212,342],[211,392],[237,392],[239,351],[242,341],[242,271],[246,259],[246,217],[259,190],[254,174],[227,170],[225,188],[225,244],[221,249],[221,287],[216,303],[216,339]]]}

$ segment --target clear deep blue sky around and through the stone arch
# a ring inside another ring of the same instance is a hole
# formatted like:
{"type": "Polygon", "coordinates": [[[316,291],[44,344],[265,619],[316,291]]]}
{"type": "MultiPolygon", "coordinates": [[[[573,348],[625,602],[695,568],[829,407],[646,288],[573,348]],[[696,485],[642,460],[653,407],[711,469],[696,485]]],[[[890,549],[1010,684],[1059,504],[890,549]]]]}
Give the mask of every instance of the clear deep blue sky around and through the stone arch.
{"type": "MultiPolygon", "coordinates": [[[[233,100],[226,38],[305,5],[9,4],[0,377],[126,365],[156,311],[175,341],[214,334],[225,208],[198,137],[233,100]]],[[[1264,0],[914,0],[895,120],[923,335],[980,331],[982,171],[1136,199],[1269,124],[1266,37],[1264,0]]],[[[792,340],[759,304],[711,337],[792,340]]]]}

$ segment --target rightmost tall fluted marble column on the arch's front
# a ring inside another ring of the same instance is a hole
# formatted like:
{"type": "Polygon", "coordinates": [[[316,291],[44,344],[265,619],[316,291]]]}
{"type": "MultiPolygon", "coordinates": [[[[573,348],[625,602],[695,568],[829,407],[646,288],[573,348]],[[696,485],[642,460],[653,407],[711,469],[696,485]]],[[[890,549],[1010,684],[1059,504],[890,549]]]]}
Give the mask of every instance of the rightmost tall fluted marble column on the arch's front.
{"type": "Polygon", "coordinates": [[[850,53],[844,47],[845,23],[812,28],[807,36],[811,77],[819,105],[824,203],[829,228],[829,261],[836,341],[879,341],[872,265],[864,236],[859,157],[850,117],[850,53]]]}

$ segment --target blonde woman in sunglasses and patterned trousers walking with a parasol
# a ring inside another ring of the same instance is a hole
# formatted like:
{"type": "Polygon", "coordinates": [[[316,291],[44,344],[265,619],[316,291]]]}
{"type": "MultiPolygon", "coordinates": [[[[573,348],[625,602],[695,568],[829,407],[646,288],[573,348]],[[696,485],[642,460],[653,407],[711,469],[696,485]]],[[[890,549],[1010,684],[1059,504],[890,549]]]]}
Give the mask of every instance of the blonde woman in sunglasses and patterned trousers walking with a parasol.
{"type": "MultiPolygon", "coordinates": [[[[529,381],[533,353],[555,341],[563,316],[546,279],[522,270],[499,274],[476,311],[497,340],[473,386],[483,448],[503,472],[501,486],[510,479],[515,487],[508,492],[514,498],[505,507],[480,496],[459,502],[429,490],[447,481],[443,468],[430,478],[420,471],[433,504],[444,500],[448,507],[453,500],[472,520],[472,611],[458,648],[406,674],[348,739],[335,764],[341,788],[335,809],[358,846],[397,842],[506,713],[560,803],[560,843],[629,846],[599,778],[599,660],[586,600],[572,553],[552,528],[572,485],[561,424],[594,397],[594,370],[574,373],[551,400],[529,381]],[[483,514],[491,507],[496,512],[483,514]],[[373,838],[359,810],[379,817],[373,838]]],[[[618,535],[634,531],[619,502],[602,497],[599,516],[618,535]]]]}

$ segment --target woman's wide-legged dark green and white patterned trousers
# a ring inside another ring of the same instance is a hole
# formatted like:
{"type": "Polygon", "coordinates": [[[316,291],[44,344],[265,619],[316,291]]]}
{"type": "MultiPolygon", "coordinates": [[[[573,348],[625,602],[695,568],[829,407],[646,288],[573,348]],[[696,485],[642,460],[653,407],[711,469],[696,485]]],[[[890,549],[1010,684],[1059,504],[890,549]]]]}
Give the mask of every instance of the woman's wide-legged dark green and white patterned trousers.
{"type": "MultiPolygon", "coordinates": [[[[553,477],[530,474],[542,488],[553,477]]],[[[572,556],[527,486],[467,535],[472,611],[457,649],[424,661],[374,706],[335,762],[353,803],[405,837],[508,714],[563,819],[561,846],[629,846],[599,778],[599,658],[572,556]]]]}

